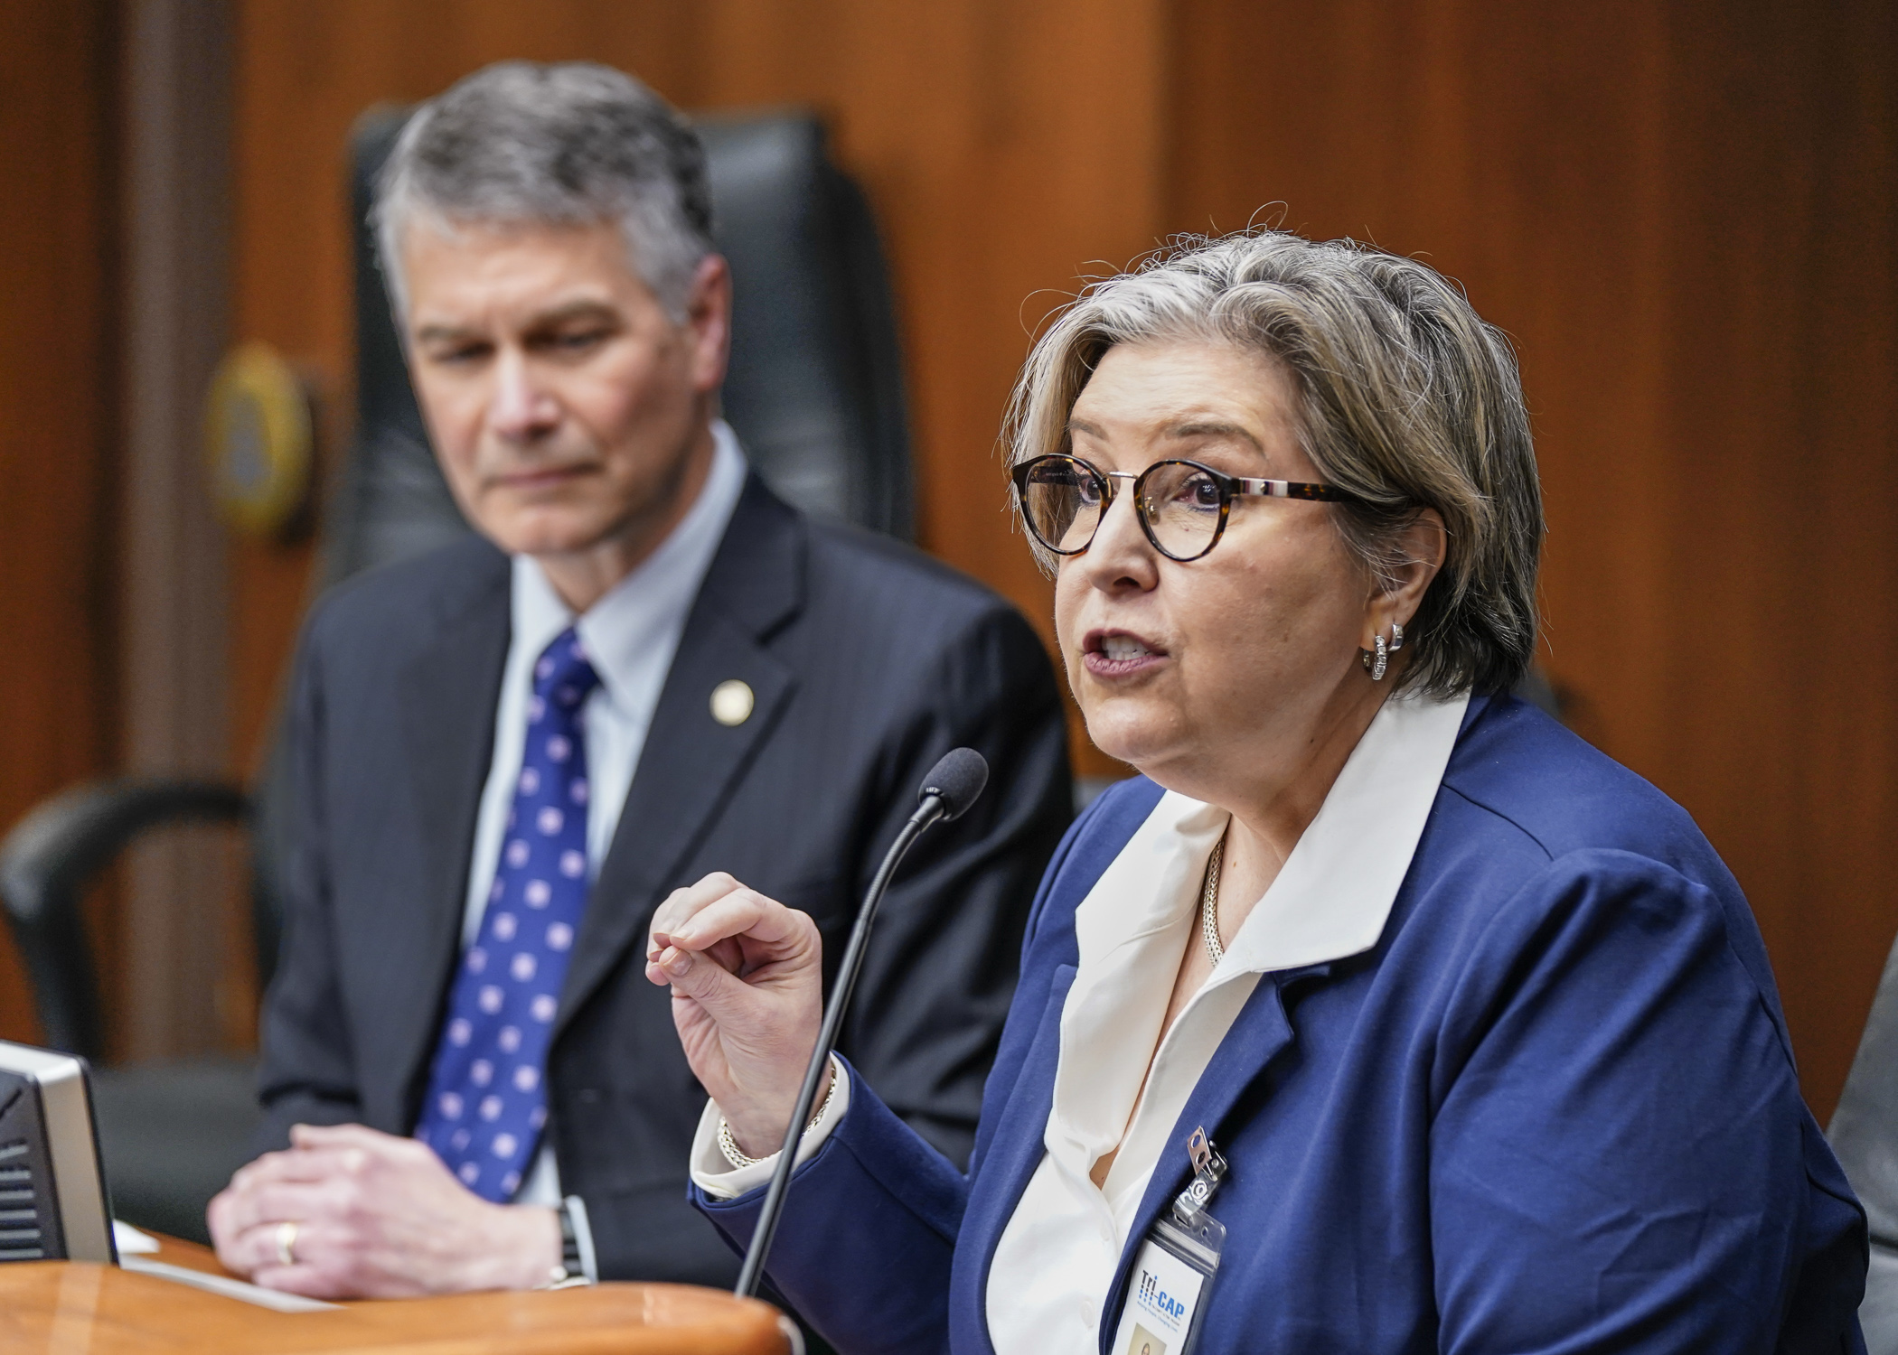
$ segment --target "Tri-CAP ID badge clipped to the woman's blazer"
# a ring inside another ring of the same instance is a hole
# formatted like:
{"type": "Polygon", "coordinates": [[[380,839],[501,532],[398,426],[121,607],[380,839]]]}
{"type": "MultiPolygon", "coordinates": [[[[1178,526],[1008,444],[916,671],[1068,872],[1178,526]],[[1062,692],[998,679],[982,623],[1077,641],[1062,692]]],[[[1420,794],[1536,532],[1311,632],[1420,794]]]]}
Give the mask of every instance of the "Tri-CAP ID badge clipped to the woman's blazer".
{"type": "Polygon", "coordinates": [[[1196,1129],[1186,1144],[1194,1179],[1173,1201],[1173,1211],[1154,1220],[1133,1256],[1127,1300],[1108,1355],[1188,1355],[1198,1344],[1226,1226],[1207,1213],[1226,1160],[1196,1129]]]}

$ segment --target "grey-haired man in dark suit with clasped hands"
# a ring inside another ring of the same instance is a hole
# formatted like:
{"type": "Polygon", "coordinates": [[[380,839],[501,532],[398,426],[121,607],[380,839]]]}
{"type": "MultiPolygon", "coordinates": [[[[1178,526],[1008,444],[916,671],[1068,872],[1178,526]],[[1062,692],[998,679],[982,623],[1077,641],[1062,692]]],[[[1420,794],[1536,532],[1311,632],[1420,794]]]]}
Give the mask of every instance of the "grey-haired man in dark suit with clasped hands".
{"type": "Polygon", "coordinates": [[[213,1201],[218,1254],[323,1296],[729,1283],[685,1197],[704,1093],[643,977],[653,909],[731,871],[835,955],[922,774],[977,748],[991,789],[898,875],[843,1040],[964,1158],[1069,816],[1053,676],[1002,600],[746,471],[702,156],[647,89],[478,72],[404,129],[376,211],[480,539],[304,636],[277,1150],[213,1201]]]}

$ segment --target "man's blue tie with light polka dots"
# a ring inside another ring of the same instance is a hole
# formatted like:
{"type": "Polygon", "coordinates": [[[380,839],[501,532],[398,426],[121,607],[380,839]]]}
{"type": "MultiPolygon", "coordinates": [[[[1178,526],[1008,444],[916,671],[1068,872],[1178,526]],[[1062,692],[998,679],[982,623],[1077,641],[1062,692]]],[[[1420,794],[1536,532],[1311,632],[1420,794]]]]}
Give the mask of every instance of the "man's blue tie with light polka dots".
{"type": "Polygon", "coordinates": [[[528,742],[480,936],[461,956],[416,1137],[507,1201],[547,1125],[547,1044],[586,907],[586,740],[600,683],[569,626],[533,664],[528,742]]]}

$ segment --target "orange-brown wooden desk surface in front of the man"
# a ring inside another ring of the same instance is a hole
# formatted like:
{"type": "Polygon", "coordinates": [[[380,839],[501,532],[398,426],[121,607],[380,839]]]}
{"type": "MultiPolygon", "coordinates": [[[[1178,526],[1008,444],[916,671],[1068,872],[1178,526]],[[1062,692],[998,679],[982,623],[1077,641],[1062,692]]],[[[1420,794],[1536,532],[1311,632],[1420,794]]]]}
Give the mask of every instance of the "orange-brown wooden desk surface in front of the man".
{"type": "MultiPolygon", "coordinates": [[[[224,1273],[203,1247],[163,1241],[154,1260],[224,1273]]],[[[275,1313],[114,1266],[0,1266],[0,1351],[8,1355],[784,1355],[786,1349],[774,1308],[689,1285],[456,1294],[275,1313]]]]}

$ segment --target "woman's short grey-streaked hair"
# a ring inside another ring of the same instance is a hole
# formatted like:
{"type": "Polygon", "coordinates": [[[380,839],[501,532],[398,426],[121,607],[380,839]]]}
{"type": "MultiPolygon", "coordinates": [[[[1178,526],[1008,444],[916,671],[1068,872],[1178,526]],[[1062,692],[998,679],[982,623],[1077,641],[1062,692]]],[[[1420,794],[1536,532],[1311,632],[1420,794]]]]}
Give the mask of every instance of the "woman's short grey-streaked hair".
{"type": "Polygon", "coordinates": [[[1285,364],[1304,452],[1351,495],[1327,510],[1374,579],[1405,562],[1418,512],[1442,516],[1448,552],[1405,628],[1416,645],[1405,687],[1450,696],[1522,678],[1543,537],[1535,450],[1509,340],[1456,285],[1348,239],[1184,237],[1089,285],[1042,334],[1008,416],[1012,457],[1067,450],[1069,414],[1107,349],[1169,340],[1285,364]]]}

